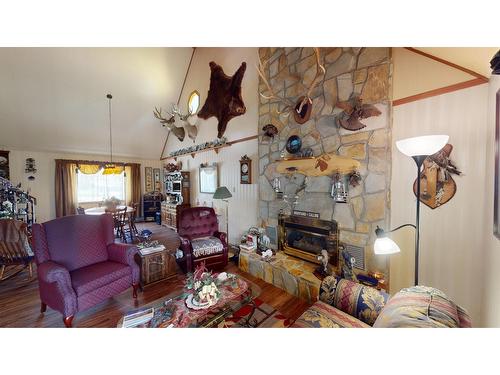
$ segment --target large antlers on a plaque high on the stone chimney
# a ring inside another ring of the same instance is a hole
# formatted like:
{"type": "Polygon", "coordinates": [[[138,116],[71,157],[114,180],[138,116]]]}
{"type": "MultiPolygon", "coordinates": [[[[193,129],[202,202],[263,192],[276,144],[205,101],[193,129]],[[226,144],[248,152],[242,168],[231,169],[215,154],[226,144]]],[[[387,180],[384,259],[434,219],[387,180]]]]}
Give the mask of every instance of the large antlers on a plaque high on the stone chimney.
{"type": "Polygon", "coordinates": [[[267,87],[267,90],[270,93],[270,95],[264,95],[261,93],[260,96],[267,100],[278,99],[281,103],[285,105],[285,107],[281,111],[279,111],[278,114],[284,114],[288,116],[291,112],[293,112],[293,118],[297,124],[304,124],[311,117],[312,101],[313,101],[311,98],[311,94],[326,72],[325,67],[320,63],[318,48],[314,48],[314,54],[316,56],[316,75],[314,76],[307,91],[303,95],[301,95],[296,102],[293,102],[288,98],[278,96],[275,93],[275,91],[269,84],[268,79],[266,78],[267,74],[265,71],[265,67],[269,62],[269,60],[266,62],[262,62],[259,58],[259,66],[257,67],[257,71],[259,73],[260,78],[262,79],[262,82],[264,82],[264,84],[267,87]]]}

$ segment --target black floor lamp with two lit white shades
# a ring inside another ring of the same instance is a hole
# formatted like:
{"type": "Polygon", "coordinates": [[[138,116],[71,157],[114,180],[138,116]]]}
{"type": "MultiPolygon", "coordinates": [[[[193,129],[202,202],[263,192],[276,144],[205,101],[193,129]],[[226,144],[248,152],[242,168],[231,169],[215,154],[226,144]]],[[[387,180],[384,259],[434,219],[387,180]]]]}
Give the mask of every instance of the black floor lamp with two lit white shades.
{"type": "Polygon", "coordinates": [[[441,150],[447,143],[447,135],[425,135],[422,137],[406,138],[396,142],[396,147],[403,154],[410,156],[417,166],[417,211],[416,223],[404,224],[389,232],[384,232],[377,227],[375,234],[377,239],[373,246],[375,254],[392,254],[400,251],[399,246],[386,237],[386,233],[394,232],[405,226],[415,227],[415,285],[418,285],[418,257],[420,246],[420,170],[427,156],[435,154],[441,150]]]}

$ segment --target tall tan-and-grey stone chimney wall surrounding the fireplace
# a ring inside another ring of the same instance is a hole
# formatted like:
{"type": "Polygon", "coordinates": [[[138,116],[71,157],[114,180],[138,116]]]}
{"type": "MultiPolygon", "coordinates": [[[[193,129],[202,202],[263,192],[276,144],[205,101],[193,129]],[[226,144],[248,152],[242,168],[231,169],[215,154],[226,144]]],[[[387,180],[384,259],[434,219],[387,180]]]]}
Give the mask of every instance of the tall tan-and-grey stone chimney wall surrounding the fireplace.
{"type": "MultiPolygon", "coordinates": [[[[336,223],[340,243],[362,249],[364,271],[387,275],[387,260],[374,256],[373,242],[376,226],[389,228],[390,217],[390,49],[337,47],[320,48],[319,51],[326,73],[311,94],[312,113],[307,122],[298,124],[293,115],[280,115],[278,112],[283,110],[283,104],[279,100],[260,98],[259,129],[269,123],[278,129],[273,139],[259,137],[261,224],[275,239],[274,247],[279,248],[279,236],[274,234],[279,231],[280,213],[291,215],[293,210],[317,213],[320,220],[336,223]],[[365,128],[349,131],[339,125],[343,109],[337,104],[354,96],[359,96],[363,103],[374,105],[381,114],[362,120],[365,128]],[[347,203],[335,203],[331,198],[333,176],[277,172],[283,154],[285,158],[292,156],[285,150],[286,141],[292,135],[299,136],[302,148],[311,148],[315,157],[335,153],[359,161],[361,180],[358,186],[349,187],[347,203]],[[284,195],[298,197],[294,204],[275,193],[275,178],[280,180],[284,195]]],[[[310,85],[316,74],[312,48],[260,48],[259,57],[268,62],[265,76],[275,93],[293,102],[303,95],[304,87],[310,85]]],[[[269,95],[262,80],[259,91],[269,95]]],[[[314,245],[312,247],[317,250],[314,245]]]]}

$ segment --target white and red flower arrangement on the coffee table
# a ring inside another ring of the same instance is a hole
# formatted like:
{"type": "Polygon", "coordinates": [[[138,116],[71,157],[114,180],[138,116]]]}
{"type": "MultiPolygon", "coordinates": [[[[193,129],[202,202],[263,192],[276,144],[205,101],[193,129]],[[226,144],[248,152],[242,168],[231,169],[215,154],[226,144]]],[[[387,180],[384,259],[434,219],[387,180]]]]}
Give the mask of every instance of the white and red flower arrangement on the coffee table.
{"type": "Polygon", "coordinates": [[[226,272],[209,272],[205,263],[201,263],[187,276],[186,289],[192,291],[192,294],[189,294],[186,304],[192,308],[208,308],[215,305],[221,295],[219,288],[226,283],[235,284],[234,275],[226,272]]]}

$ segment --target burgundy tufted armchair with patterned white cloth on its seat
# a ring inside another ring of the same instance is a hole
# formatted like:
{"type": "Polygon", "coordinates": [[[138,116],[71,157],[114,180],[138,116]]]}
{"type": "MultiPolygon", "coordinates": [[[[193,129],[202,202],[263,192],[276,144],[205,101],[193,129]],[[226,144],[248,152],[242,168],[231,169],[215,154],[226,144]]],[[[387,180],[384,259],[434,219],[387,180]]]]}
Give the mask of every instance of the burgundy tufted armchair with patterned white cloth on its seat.
{"type": "Polygon", "coordinates": [[[210,207],[190,207],[180,212],[177,233],[184,256],[178,259],[184,272],[192,272],[196,266],[222,268],[228,262],[226,233],[219,232],[217,215],[210,207]]]}

